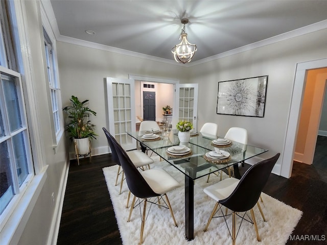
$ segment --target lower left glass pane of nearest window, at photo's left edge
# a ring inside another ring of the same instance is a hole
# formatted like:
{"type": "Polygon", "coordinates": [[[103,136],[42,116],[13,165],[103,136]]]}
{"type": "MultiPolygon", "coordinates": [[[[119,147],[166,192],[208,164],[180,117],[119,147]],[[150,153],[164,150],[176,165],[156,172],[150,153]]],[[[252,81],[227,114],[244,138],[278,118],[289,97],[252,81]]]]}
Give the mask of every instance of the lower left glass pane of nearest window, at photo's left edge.
{"type": "Polygon", "coordinates": [[[0,169],[0,213],[2,213],[14,197],[7,141],[0,143],[0,169]]]}

